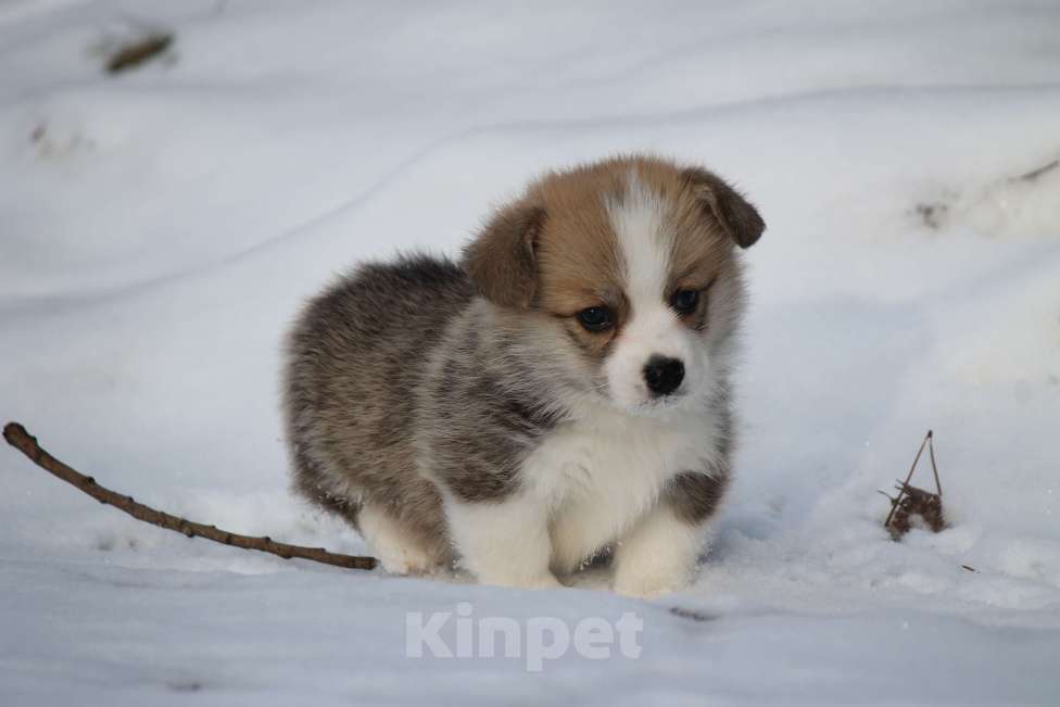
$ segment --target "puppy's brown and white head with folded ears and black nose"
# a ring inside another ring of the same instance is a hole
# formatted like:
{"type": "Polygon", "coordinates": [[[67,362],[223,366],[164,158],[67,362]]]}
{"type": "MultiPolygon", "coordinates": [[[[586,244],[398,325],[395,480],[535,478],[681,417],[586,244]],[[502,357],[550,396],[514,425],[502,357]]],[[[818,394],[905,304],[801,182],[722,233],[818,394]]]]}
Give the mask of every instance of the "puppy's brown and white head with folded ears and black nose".
{"type": "Polygon", "coordinates": [[[621,157],[531,185],[464,266],[508,314],[547,318],[551,353],[578,368],[581,392],[651,414],[702,404],[728,365],[743,311],[737,251],[764,229],[714,174],[621,157]]]}

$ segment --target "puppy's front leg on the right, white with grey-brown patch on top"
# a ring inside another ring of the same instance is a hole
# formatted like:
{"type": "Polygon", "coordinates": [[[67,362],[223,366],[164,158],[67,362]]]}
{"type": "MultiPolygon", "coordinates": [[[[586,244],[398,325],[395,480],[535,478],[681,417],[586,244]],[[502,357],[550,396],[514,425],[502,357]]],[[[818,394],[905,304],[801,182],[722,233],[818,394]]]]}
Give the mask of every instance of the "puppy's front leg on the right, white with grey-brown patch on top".
{"type": "Polygon", "coordinates": [[[641,518],[615,550],[615,591],[658,596],[685,586],[696,571],[706,521],[728,484],[728,468],[711,474],[679,474],[658,504],[641,518]]]}

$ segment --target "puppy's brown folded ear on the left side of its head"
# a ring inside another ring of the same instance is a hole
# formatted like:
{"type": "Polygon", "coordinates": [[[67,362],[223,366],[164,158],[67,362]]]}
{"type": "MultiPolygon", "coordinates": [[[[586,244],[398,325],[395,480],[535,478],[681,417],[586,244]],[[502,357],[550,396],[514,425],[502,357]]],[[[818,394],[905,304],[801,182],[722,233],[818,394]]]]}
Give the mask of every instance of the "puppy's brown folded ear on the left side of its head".
{"type": "Polygon", "coordinates": [[[534,249],[544,220],[540,206],[506,206],[464,249],[464,269],[485,299],[503,307],[530,307],[538,283],[534,249]]]}

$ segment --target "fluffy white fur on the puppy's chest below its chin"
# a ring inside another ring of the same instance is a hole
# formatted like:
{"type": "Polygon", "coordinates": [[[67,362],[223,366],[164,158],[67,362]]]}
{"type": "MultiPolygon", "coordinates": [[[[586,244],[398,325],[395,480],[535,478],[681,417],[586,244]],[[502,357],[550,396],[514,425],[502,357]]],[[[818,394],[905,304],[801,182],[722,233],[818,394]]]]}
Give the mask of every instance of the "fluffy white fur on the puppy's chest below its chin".
{"type": "Polygon", "coordinates": [[[708,414],[585,413],[548,434],[521,469],[525,490],[550,509],[553,564],[564,570],[620,539],[668,479],[709,469],[717,454],[708,414]]]}

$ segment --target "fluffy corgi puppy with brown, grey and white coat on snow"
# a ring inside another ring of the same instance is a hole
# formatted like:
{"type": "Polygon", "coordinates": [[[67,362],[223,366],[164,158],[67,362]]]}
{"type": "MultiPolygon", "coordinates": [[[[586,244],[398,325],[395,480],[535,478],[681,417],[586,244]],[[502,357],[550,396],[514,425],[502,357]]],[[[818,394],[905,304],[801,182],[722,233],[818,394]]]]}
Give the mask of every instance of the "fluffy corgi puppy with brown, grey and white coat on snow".
{"type": "Polygon", "coordinates": [[[544,175],[458,262],[365,264],[308,303],[285,380],[294,485],[386,570],[684,586],[730,478],[741,249],[712,173],[622,156],[544,175]]]}

